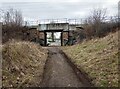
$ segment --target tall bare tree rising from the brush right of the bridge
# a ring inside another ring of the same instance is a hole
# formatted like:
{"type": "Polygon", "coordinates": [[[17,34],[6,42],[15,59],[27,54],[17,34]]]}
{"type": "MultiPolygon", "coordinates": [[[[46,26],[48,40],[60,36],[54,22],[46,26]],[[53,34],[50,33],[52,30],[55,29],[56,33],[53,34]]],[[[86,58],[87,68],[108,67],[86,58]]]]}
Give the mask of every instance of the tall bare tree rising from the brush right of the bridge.
{"type": "Polygon", "coordinates": [[[84,28],[86,28],[86,35],[89,36],[89,38],[102,34],[101,25],[107,17],[106,11],[107,9],[94,9],[85,20],[84,28]]]}

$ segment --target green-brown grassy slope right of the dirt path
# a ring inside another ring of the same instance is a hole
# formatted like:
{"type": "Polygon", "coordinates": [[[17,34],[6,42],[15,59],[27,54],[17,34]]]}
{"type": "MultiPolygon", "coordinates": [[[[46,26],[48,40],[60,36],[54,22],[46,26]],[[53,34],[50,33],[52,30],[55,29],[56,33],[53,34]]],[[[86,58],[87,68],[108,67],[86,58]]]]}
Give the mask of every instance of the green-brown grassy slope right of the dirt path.
{"type": "Polygon", "coordinates": [[[118,86],[118,32],[62,49],[92,78],[95,86],[118,86]]]}

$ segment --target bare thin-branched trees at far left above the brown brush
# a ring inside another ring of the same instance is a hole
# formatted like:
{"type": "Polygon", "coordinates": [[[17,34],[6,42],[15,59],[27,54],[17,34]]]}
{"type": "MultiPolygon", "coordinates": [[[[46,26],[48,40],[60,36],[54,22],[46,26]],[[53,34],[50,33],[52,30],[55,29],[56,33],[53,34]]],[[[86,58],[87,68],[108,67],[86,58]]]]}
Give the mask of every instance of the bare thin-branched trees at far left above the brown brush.
{"type": "Polygon", "coordinates": [[[2,39],[3,43],[9,39],[20,38],[20,34],[23,29],[22,13],[19,10],[10,8],[8,10],[2,10],[2,39]]]}

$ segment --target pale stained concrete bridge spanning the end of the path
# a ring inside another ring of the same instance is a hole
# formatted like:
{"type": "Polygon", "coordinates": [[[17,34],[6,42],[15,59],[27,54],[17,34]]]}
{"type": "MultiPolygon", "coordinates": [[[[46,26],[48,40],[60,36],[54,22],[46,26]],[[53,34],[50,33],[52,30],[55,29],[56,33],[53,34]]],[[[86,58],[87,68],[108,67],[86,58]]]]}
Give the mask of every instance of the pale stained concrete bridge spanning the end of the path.
{"type": "Polygon", "coordinates": [[[49,23],[38,24],[33,29],[39,31],[39,39],[43,39],[44,46],[48,46],[48,37],[51,35],[51,42],[53,45],[65,45],[64,41],[69,41],[72,36],[71,31],[81,29],[80,24],[70,24],[69,22],[55,22],[54,20],[49,23]],[[55,39],[55,34],[59,33],[59,41],[55,39]],[[59,42],[59,43],[58,43],[59,42]]]}

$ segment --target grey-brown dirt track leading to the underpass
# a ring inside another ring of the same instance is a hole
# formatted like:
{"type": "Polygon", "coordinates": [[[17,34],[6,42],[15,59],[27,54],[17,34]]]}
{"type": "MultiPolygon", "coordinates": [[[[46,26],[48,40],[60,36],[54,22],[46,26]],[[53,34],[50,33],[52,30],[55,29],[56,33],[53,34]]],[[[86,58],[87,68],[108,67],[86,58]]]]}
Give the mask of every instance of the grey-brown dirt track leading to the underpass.
{"type": "Polygon", "coordinates": [[[42,87],[86,87],[77,77],[66,58],[56,47],[48,47],[49,56],[46,63],[42,87]]]}

